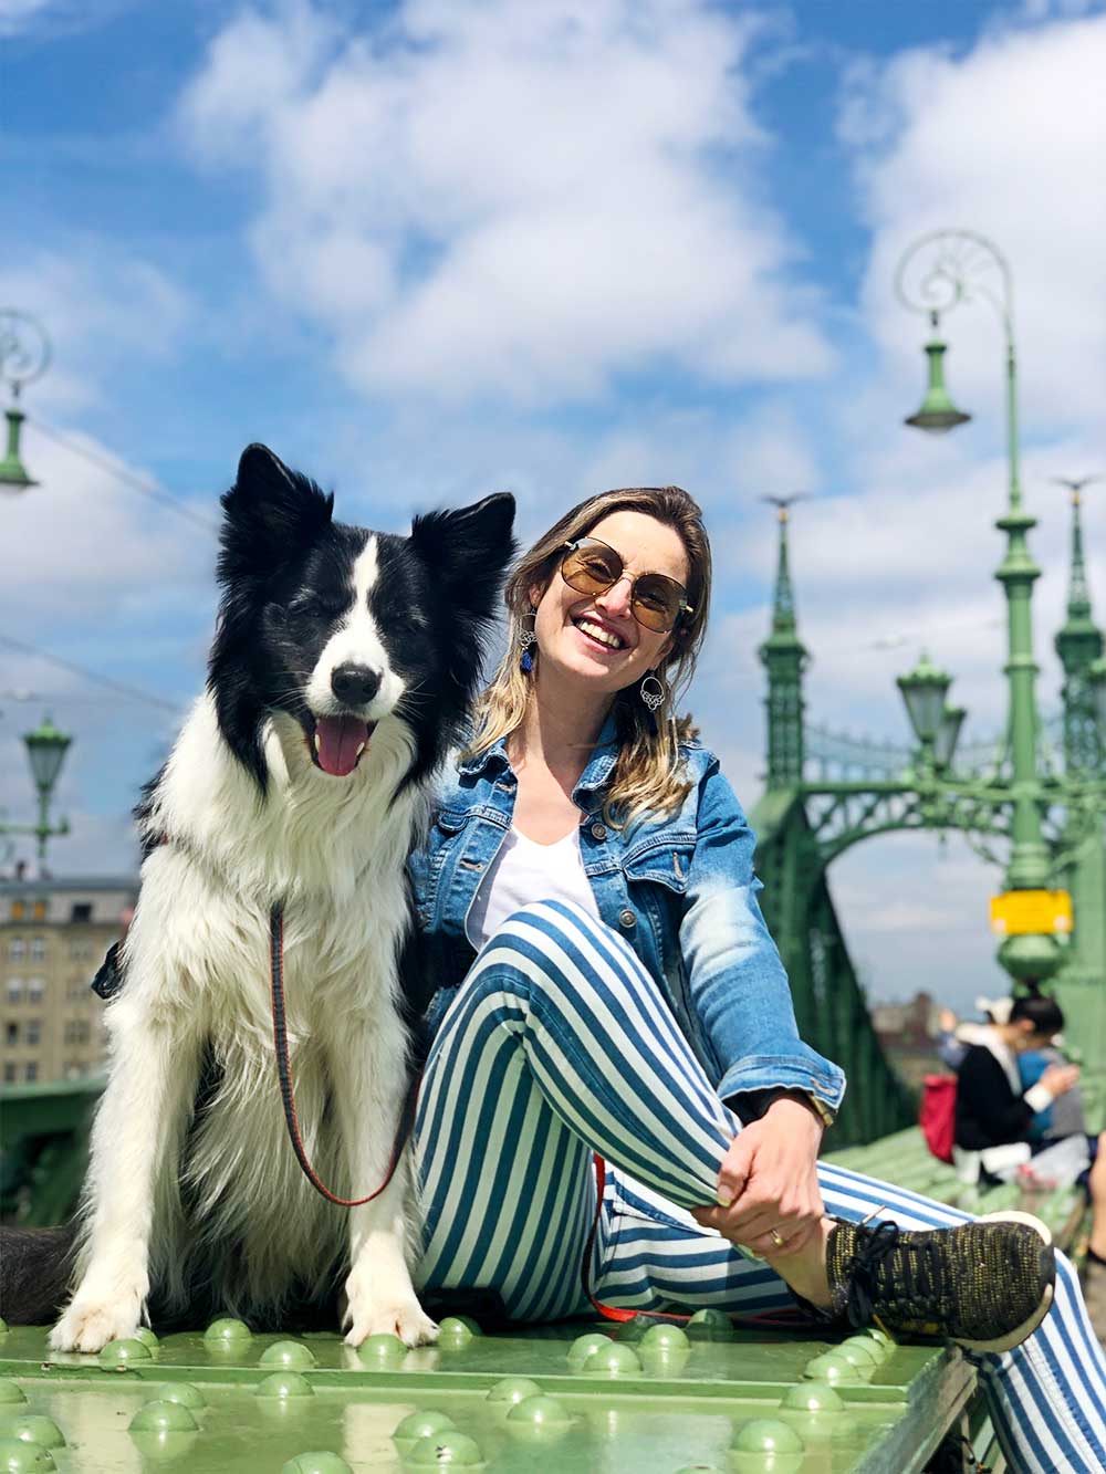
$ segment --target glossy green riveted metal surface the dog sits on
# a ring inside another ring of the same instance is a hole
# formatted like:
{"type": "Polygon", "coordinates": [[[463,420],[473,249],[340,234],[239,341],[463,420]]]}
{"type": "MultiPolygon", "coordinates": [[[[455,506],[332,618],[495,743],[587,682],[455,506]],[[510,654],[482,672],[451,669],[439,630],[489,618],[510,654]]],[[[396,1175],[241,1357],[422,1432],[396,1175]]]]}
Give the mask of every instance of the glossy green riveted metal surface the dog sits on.
{"type": "MultiPolygon", "coordinates": [[[[0,1450],[9,1436],[43,1437],[72,1474],[911,1474],[975,1384],[956,1352],[873,1337],[835,1346],[656,1322],[472,1330],[447,1321],[439,1346],[414,1352],[394,1337],[354,1352],[336,1335],[171,1335],[121,1369],[52,1356],[44,1331],[12,1330],[0,1335],[0,1450]]],[[[12,1467],[0,1452],[0,1470],[12,1467]]]]}

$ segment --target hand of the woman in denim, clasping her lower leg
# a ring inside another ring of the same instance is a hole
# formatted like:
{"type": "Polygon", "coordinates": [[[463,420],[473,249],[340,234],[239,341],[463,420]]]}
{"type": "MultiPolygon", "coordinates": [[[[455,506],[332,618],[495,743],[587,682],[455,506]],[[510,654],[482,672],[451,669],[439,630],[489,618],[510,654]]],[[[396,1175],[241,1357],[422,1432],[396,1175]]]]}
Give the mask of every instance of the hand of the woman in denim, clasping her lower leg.
{"type": "Polygon", "coordinates": [[[734,1136],[718,1172],[718,1206],[692,1209],[696,1222],[764,1259],[801,1253],[826,1212],[817,1178],[821,1132],[813,1106],[780,1097],[734,1136]]]}

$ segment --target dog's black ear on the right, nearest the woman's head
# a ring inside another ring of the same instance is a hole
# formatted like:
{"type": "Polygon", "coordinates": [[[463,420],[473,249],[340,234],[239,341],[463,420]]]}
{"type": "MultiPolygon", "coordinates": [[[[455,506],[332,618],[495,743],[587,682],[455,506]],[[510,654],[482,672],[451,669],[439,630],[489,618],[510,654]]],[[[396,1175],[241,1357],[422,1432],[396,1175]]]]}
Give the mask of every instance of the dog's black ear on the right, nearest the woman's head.
{"type": "Polygon", "coordinates": [[[411,523],[416,553],[456,606],[487,618],[515,556],[515,498],[498,491],[457,511],[429,511],[411,523]]]}

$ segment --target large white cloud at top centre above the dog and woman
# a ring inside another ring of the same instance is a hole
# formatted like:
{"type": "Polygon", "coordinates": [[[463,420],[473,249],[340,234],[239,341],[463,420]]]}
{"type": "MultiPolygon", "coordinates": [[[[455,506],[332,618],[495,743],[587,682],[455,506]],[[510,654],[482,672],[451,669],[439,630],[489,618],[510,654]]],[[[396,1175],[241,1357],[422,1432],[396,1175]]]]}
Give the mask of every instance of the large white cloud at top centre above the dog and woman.
{"type": "Polygon", "coordinates": [[[260,170],[270,286],[375,395],[549,404],[665,361],[817,374],[817,304],[755,184],[754,24],[702,0],[407,0],[349,37],[305,3],[246,12],[181,128],[260,170]]]}

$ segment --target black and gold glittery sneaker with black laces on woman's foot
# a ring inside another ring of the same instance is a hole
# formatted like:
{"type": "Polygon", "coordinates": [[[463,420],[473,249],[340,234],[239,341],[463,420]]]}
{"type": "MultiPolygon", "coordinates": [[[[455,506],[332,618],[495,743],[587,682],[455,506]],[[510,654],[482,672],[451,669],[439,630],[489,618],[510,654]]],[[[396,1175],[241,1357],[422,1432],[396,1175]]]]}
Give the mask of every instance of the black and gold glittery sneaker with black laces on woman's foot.
{"type": "Polygon", "coordinates": [[[925,1232],[838,1222],[826,1246],[833,1315],[894,1335],[1009,1352],[1048,1313],[1051,1234],[1029,1213],[988,1213],[925,1232]]]}

